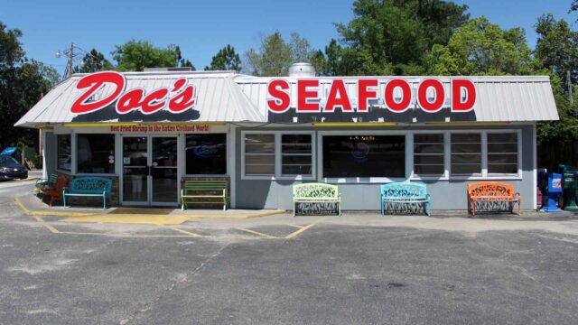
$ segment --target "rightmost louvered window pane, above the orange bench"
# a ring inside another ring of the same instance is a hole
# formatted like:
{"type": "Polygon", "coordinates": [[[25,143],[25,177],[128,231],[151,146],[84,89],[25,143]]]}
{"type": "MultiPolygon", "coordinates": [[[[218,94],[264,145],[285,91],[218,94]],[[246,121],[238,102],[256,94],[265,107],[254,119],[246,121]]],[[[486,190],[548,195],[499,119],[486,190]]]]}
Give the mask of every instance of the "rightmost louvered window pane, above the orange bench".
{"type": "Polygon", "coordinates": [[[517,133],[488,134],[488,173],[517,174],[517,133]]]}

